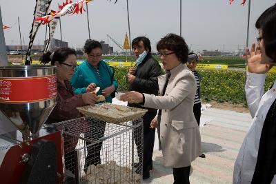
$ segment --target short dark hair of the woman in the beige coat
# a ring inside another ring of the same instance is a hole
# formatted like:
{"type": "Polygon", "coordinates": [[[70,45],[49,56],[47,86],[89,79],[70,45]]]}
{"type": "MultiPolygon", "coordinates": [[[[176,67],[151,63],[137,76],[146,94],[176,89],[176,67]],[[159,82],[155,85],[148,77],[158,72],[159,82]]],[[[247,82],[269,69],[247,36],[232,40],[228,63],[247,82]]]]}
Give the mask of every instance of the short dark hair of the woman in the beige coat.
{"type": "Polygon", "coordinates": [[[157,50],[168,49],[175,52],[177,58],[181,63],[186,63],[188,60],[188,45],[184,38],[178,36],[177,34],[167,34],[166,37],[161,38],[157,43],[157,50]]]}

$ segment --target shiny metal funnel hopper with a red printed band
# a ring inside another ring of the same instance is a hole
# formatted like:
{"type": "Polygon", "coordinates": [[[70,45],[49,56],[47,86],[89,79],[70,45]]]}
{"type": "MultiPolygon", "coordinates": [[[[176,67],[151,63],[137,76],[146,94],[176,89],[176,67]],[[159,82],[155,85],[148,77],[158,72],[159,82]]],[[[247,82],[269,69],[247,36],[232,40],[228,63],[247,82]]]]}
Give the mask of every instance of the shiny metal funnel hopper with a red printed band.
{"type": "Polygon", "coordinates": [[[55,66],[0,67],[0,110],[21,131],[36,138],[57,103],[55,66]]]}

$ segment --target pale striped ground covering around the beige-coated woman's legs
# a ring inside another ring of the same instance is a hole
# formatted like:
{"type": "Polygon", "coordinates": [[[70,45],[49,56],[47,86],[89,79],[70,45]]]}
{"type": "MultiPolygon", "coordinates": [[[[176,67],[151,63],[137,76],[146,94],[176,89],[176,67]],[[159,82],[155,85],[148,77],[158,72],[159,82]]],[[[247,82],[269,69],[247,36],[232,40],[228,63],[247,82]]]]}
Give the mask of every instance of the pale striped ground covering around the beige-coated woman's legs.
{"type": "MultiPolygon", "coordinates": [[[[252,121],[249,113],[208,108],[202,119],[213,119],[200,128],[202,150],[206,159],[198,158],[192,164],[190,183],[232,183],[233,166],[239,147],[252,121]]],[[[157,138],[157,136],[156,136],[157,138]]],[[[153,167],[144,183],[173,183],[172,169],[163,167],[162,154],[155,139],[153,167]]]]}

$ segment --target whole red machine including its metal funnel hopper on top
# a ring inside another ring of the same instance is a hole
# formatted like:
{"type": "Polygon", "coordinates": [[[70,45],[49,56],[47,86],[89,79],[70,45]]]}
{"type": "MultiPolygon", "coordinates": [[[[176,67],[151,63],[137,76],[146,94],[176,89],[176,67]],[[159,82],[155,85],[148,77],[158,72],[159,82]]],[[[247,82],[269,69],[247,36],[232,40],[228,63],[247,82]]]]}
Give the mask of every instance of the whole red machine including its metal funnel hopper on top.
{"type": "Polygon", "coordinates": [[[17,145],[0,163],[1,183],[63,183],[61,132],[39,136],[57,103],[56,82],[54,66],[0,68],[0,110],[22,133],[22,141],[10,138],[17,145]]]}

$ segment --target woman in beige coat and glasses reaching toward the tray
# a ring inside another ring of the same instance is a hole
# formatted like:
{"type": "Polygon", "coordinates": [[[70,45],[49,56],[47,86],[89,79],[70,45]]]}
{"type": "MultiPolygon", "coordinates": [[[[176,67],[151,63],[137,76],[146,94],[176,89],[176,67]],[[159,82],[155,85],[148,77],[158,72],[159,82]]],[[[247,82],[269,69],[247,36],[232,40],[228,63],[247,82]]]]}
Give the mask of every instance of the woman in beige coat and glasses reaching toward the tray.
{"type": "Polygon", "coordinates": [[[160,123],[164,165],[173,168],[175,184],[190,183],[190,165],[201,154],[201,143],[193,114],[195,76],[184,64],[188,59],[188,45],[182,37],[168,34],[157,43],[157,50],[166,70],[158,78],[161,96],[132,91],[121,95],[121,100],[159,109],[151,126],[157,127],[160,123]]]}

